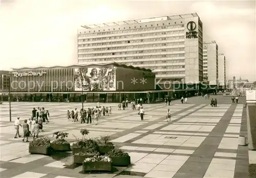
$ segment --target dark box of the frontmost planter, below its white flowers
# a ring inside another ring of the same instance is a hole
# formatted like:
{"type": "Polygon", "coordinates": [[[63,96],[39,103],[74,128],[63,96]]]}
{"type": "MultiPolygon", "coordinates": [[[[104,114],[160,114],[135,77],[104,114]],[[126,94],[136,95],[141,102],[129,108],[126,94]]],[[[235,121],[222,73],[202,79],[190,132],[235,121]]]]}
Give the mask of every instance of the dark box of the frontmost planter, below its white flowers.
{"type": "Polygon", "coordinates": [[[83,162],[82,171],[112,171],[112,162],[83,162]]]}

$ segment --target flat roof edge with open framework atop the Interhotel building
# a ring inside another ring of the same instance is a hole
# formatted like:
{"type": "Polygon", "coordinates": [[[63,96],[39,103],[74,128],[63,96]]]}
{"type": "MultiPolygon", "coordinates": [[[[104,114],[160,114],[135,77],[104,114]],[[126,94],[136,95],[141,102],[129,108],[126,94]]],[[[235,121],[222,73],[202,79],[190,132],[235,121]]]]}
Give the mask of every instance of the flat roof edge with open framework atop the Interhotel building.
{"type": "MultiPolygon", "coordinates": [[[[86,29],[96,29],[96,28],[102,28],[102,27],[123,26],[125,24],[143,23],[145,19],[147,19],[147,22],[150,22],[148,20],[156,21],[154,19],[159,19],[161,17],[162,18],[167,17],[168,20],[174,20],[174,19],[191,18],[191,17],[199,17],[199,16],[195,12],[195,13],[186,13],[186,14],[178,14],[178,15],[166,15],[166,16],[158,16],[158,17],[151,17],[151,18],[143,18],[143,19],[115,21],[115,22],[108,22],[108,23],[88,24],[88,25],[84,25],[84,26],[81,26],[81,27],[86,28],[86,29]]],[[[160,20],[157,20],[157,21],[160,21],[160,20]]]]}

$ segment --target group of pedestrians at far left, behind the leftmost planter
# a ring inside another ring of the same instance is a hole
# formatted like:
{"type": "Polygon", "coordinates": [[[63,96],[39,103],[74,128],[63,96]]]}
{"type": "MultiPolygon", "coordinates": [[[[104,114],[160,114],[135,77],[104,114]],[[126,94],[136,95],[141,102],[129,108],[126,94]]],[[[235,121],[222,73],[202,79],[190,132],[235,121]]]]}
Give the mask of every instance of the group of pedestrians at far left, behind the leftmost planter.
{"type": "Polygon", "coordinates": [[[42,130],[42,123],[46,122],[49,123],[49,118],[50,118],[50,114],[48,110],[45,110],[44,107],[42,108],[33,108],[32,110],[32,116],[31,118],[29,118],[28,120],[25,119],[24,120],[24,124],[20,124],[19,121],[19,117],[15,120],[14,122],[14,127],[15,127],[15,136],[14,138],[18,137],[22,137],[19,134],[19,126],[23,128],[23,134],[24,134],[24,138],[23,141],[25,141],[26,138],[26,142],[28,142],[28,138],[30,136],[34,138],[38,138],[38,134],[39,132],[43,132],[42,130]]]}

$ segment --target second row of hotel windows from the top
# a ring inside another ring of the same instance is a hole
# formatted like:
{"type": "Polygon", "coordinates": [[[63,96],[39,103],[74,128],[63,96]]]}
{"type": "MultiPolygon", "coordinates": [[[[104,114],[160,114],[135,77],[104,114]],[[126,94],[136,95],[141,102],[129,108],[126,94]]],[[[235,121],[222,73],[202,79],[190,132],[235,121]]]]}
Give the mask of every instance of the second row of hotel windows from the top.
{"type": "Polygon", "coordinates": [[[179,34],[179,33],[182,33],[183,35],[185,35],[184,30],[175,30],[175,31],[168,31],[168,32],[156,32],[156,33],[144,33],[144,34],[111,36],[111,37],[101,37],[101,38],[78,39],[78,42],[102,41],[102,40],[125,39],[125,38],[138,38],[138,37],[149,37],[149,36],[158,36],[158,35],[171,35],[171,34],[179,34]]]}

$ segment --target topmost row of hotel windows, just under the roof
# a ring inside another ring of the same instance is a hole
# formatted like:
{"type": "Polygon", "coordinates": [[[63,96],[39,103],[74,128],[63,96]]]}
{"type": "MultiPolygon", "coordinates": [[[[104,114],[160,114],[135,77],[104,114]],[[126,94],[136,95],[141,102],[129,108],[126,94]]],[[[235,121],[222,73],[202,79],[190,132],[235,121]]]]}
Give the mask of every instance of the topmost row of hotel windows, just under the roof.
{"type": "MultiPolygon", "coordinates": [[[[153,26],[153,25],[151,25],[153,26]]],[[[151,27],[151,28],[141,28],[140,29],[136,29],[136,26],[134,27],[135,29],[131,29],[131,27],[129,27],[129,30],[120,30],[120,28],[118,28],[117,31],[111,31],[111,32],[96,32],[95,30],[93,31],[94,33],[91,33],[91,31],[89,31],[90,34],[78,34],[78,37],[88,37],[88,36],[98,36],[98,35],[111,35],[111,34],[120,34],[120,33],[131,33],[131,32],[143,32],[143,31],[151,31],[151,30],[161,30],[161,29],[174,29],[174,28],[182,28],[184,27],[184,24],[175,24],[175,25],[171,25],[171,26],[162,26],[162,27],[151,27]]],[[[125,28],[124,28],[125,29],[125,28]]],[[[115,29],[113,29],[115,30],[115,29]]],[[[110,29],[109,29],[110,31],[110,29]]],[[[80,32],[81,33],[81,32],[80,32]]],[[[84,31],[84,33],[86,33],[84,31]]]]}

